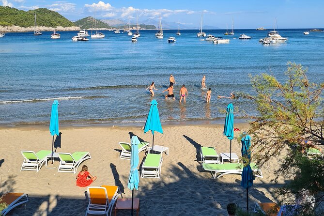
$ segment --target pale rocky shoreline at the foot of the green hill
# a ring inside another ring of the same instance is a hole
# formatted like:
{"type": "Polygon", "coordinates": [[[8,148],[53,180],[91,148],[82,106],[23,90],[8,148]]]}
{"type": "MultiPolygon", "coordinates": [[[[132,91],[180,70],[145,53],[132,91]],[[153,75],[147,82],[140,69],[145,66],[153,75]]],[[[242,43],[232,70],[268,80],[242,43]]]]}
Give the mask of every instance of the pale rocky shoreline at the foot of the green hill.
{"type": "MultiPolygon", "coordinates": [[[[57,26],[56,28],[52,27],[45,27],[45,26],[38,26],[38,31],[80,31],[80,28],[77,26],[72,27],[62,27],[57,26]]],[[[0,26],[0,32],[29,32],[34,31],[34,27],[20,27],[20,26],[0,26]]]]}

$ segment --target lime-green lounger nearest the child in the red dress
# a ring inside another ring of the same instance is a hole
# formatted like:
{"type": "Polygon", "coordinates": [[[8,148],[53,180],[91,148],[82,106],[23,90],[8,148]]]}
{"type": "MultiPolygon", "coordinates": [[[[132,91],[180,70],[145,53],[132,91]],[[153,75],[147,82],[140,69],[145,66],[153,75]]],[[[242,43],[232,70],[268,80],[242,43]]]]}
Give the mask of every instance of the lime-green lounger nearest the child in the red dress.
{"type": "Polygon", "coordinates": [[[60,166],[58,172],[77,172],[79,165],[87,160],[91,159],[89,152],[75,152],[70,153],[57,153],[60,158],[60,166]]]}

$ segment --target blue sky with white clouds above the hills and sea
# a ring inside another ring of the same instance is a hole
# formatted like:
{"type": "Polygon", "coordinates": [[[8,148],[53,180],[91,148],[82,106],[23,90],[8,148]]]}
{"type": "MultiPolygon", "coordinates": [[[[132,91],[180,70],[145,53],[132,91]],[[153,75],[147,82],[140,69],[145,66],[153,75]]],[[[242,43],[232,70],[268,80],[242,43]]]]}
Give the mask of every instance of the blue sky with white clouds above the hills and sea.
{"type": "Polygon", "coordinates": [[[71,21],[94,16],[97,19],[122,19],[139,22],[158,19],[199,27],[231,29],[324,28],[324,0],[0,0],[0,5],[21,10],[48,8],[71,21]]]}

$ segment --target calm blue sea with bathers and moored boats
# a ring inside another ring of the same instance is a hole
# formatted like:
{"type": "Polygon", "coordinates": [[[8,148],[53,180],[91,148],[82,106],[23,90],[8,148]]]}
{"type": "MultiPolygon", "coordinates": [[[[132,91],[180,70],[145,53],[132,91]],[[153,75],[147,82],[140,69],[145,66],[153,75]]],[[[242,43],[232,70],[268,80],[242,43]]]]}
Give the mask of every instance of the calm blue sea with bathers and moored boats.
{"type": "Polygon", "coordinates": [[[218,45],[197,38],[197,31],[177,36],[177,30],[165,30],[164,39],[156,39],[156,31],[140,31],[137,43],[113,31],[86,42],[72,42],[76,31],[59,32],[56,40],[52,32],[6,33],[0,38],[0,124],[48,123],[54,99],[60,103],[61,123],[144,124],[152,100],[146,88],[152,81],[162,122],[212,123],[224,117],[219,110],[230,102],[238,119],[257,114],[248,100],[217,99],[233,91],[253,94],[249,74],[271,73],[282,81],[291,61],[307,67],[312,81],[324,81],[324,32],[282,29],[279,34],[287,42],[264,46],[259,39],[268,31],[234,30],[227,36],[224,30],[206,30],[231,39],[218,45]],[[252,39],[239,40],[242,33],[252,39]],[[176,43],[167,43],[170,36],[176,43]],[[162,93],[170,74],[176,101],[165,100],[162,93]],[[201,90],[203,75],[212,89],[210,104],[201,90]],[[179,104],[182,84],[189,92],[185,105],[179,104]]]}

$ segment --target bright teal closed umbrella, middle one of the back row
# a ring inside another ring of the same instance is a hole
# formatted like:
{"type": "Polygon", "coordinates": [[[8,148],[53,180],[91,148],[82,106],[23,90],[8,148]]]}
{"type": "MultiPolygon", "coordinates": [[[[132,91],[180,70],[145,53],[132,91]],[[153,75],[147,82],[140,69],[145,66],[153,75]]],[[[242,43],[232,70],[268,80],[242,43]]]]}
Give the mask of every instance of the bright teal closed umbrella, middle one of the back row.
{"type": "Polygon", "coordinates": [[[161,122],[160,122],[160,116],[159,116],[159,110],[157,109],[157,102],[156,100],[151,101],[151,108],[149,111],[149,114],[146,119],[146,123],[144,126],[144,133],[151,131],[153,134],[153,141],[152,141],[152,150],[154,149],[154,131],[160,132],[163,134],[161,122]]]}

